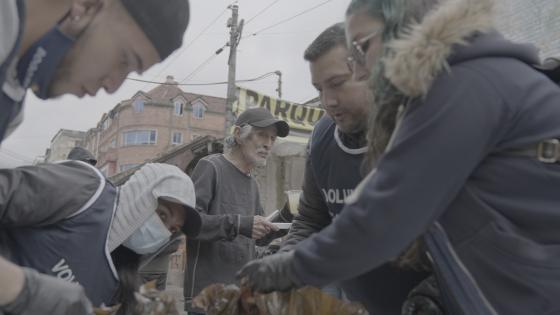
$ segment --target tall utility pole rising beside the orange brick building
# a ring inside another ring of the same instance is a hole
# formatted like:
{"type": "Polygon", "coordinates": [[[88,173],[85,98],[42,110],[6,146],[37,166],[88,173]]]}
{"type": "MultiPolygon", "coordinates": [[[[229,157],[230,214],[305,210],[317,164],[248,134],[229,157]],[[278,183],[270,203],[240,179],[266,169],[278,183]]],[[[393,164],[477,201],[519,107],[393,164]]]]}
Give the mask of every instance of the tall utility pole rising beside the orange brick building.
{"type": "Polygon", "coordinates": [[[228,59],[228,92],[226,99],[226,123],[225,134],[228,135],[231,126],[234,124],[235,117],[233,116],[233,103],[235,102],[235,70],[237,62],[237,45],[241,40],[241,33],[243,31],[243,20],[238,24],[237,18],[239,13],[239,5],[232,4],[228,7],[231,9],[231,18],[228,21],[229,27],[229,59],[228,59]]]}

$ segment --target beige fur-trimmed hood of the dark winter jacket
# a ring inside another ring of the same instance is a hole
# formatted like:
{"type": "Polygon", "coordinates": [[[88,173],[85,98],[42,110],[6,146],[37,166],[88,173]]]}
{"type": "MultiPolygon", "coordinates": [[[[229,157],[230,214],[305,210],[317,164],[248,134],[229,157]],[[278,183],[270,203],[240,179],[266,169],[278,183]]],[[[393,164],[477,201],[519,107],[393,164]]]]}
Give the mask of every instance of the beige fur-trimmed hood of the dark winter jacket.
{"type": "Polygon", "coordinates": [[[538,63],[536,49],[514,44],[495,31],[495,0],[442,0],[423,21],[387,43],[385,76],[404,95],[425,96],[451,65],[504,56],[538,63]]]}

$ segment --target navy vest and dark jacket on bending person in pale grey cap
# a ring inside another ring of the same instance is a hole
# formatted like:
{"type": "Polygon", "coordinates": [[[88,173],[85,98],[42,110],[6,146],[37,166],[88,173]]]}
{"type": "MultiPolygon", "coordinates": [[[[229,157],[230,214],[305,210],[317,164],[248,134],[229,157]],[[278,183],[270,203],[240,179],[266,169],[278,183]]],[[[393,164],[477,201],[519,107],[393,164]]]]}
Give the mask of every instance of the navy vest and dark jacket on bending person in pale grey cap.
{"type": "Polygon", "coordinates": [[[119,284],[106,246],[115,187],[79,161],[0,170],[0,187],[0,254],[81,284],[93,305],[111,305],[119,284]]]}

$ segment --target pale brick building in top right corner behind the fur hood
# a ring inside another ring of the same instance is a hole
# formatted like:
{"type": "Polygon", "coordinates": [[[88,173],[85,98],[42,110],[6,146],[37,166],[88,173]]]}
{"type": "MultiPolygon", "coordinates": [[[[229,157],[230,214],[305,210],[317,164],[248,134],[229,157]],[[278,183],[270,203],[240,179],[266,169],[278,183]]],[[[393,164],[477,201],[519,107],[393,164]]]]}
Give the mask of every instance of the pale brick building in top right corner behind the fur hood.
{"type": "Polygon", "coordinates": [[[498,28],[536,45],[541,57],[560,56],[560,0],[498,0],[498,28]]]}

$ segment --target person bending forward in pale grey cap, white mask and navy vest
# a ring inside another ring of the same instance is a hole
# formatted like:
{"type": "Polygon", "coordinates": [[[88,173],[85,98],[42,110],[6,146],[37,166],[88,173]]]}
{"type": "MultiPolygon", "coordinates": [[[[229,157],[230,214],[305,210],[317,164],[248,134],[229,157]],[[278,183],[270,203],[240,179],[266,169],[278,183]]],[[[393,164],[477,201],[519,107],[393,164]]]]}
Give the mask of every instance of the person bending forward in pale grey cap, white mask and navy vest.
{"type": "Polygon", "coordinates": [[[146,164],[119,188],[81,161],[0,170],[0,186],[0,253],[11,261],[0,265],[16,273],[0,273],[0,314],[131,307],[140,255],[200,230],[193,183],[168,164],[146,164]]]}

